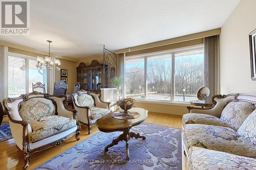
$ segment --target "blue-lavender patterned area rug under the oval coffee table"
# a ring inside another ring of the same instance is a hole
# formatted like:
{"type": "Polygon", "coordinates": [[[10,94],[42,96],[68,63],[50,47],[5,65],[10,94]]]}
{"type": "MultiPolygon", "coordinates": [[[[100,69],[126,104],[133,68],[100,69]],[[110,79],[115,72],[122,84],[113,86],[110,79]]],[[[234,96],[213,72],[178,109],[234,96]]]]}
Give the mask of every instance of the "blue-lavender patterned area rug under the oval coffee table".
{"type": "Polygon", "coordinates": [[[181,130],[161,125],[142,123],[132,131],[146,137],[145,140],[129,140],[130,160],[125,162],[125,141],[104,152],[105,145],[121,132],[98,132],[74,145],[47,162],[39,169],[181,169],[181,130]]]}

